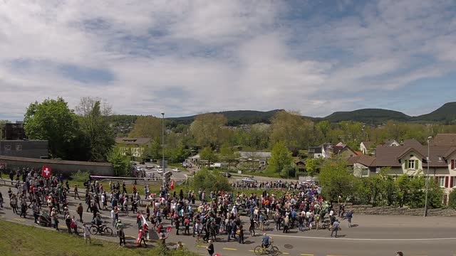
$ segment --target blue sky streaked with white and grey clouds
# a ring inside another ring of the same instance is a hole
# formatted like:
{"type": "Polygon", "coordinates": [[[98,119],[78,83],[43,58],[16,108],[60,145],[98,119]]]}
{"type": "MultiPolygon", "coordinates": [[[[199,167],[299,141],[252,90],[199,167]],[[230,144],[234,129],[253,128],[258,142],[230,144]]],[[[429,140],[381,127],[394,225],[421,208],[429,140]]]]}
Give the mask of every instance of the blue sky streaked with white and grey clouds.
{"type": "Polygon", "coordinates": [[[100,97],[115,114],[385,108],[456,95],[454,0],[2,0],[0,119],[100,97]]]}

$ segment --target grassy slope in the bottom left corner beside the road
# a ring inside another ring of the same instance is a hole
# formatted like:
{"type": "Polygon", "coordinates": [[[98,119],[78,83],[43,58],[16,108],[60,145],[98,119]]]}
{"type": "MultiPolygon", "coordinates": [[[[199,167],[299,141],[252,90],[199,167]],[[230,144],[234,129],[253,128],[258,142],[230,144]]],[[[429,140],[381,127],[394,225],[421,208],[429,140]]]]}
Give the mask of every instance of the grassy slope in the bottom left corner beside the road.
{"type": "MultiPolygon", "coordinates": [[[[160,255],[160,248],[119,247],[118,243],[95,240],[86,245],[82,237],[0,220],[0,255],[160,255]]],[[[131,245],[130,245],[131,246],[131,245]]],[[[195,256],[192,252],[167,253],[195,256]]]]}

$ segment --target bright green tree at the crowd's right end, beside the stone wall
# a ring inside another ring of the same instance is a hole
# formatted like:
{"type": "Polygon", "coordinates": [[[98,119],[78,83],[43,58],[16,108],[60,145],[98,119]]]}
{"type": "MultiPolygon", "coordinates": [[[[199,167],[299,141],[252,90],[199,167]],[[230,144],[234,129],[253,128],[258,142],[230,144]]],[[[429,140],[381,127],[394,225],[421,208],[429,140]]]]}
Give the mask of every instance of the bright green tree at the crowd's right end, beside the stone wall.
{"type": "Polygon", "coordinates": [[[329,201],[336,201],[338,196],[350,198],[355,191],[355,177],[348,172],[347,163],[343,159],[324,161],[318,181],[323,197],[329,201]]]}

